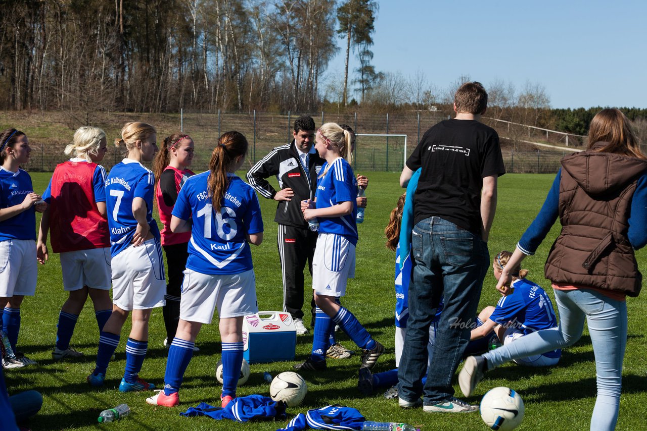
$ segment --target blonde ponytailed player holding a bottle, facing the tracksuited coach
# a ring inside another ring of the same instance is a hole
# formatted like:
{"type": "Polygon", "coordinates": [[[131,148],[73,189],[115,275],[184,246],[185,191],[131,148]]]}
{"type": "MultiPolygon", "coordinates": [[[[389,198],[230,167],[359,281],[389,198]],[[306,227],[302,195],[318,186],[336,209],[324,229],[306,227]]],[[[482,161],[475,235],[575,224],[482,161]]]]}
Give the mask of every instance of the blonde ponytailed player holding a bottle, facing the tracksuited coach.
{"type": "Polygon", "coordinates": [[[317,178],[315,202],[304,200],[301,208],[305,220],[319,221],[313,258],[317,309],[312,353],[304,363],[294,366],[296,370],[325,370],[328,339],[335,324],[362,348],[360,368],[373,367],[384,352],[384,346],[371,338],[353,313],[338,304],[347,279],[355,277],[357,181],[347,162],[352,158],[352,139],[351,132],[336,123],[325,123],[316,133],[315,148],[326,162],[317,178]]]}

